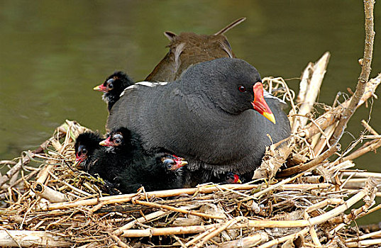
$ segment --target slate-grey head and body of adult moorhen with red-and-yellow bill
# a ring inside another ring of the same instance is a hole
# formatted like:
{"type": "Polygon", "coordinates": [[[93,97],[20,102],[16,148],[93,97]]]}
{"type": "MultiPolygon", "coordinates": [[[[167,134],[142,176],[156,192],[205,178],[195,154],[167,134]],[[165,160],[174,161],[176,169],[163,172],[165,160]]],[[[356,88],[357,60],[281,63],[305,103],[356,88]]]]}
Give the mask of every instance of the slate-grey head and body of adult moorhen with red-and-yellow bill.
{"type": "MultiPolygon", "coordinates": [[[[191,171],[245,174],[260,165],[271,145],[267,134],[278,142],[290,132],[280,100],[264,97],[262,84],[255,84],[260,81],[258,71],[243,60],[202,62],[170,84],[135,84],[123,91],[107,128],[132,130],[146,151],[184,157],[191,171]]],[[[210,176],[197,178],[205,182],[210,176]]]]}

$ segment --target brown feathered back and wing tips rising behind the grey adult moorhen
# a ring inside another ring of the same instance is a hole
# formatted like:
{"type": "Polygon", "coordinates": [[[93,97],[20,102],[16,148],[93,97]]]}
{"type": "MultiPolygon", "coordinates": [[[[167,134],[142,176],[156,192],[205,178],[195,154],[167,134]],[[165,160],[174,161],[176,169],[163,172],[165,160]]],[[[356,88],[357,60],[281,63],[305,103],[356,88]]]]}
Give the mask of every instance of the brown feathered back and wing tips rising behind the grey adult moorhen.
{"type": "Polygon", "coordinates": [[[175,81],[185,69],[192,64],[215,60],[221,57],[236,57],[231,50],[224,33],[246,18],[239,18],[214,35],[198,35],[197,33],[180,33],[170,31],[165,36],[170,40],[170,51],[153,69],[145,81],[175,81]]]}

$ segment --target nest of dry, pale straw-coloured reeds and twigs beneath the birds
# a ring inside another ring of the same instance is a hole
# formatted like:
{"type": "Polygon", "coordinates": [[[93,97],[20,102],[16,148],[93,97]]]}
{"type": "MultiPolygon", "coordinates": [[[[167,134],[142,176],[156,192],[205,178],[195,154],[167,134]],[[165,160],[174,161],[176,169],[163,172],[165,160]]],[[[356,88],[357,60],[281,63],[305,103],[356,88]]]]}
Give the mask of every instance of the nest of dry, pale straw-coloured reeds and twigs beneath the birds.
{"type": "MultiPolygon", "coordinates": [[[[307,66],[298,96],[282,78],[263,79],[292,107],[292,136],[267,149],[247,184],[142,187],[107,196],[101,179],[72,167],[75,137],[87,128],[67,120],[37,150],[1,162],[10,169],[0,178],[0,246],[378,247],[378,225],[350,223],[381,208],[374,206],[381,174],[352,162],[380,147],[381,137],[364,122],[370,135],[355,145],[370,141],[338,154],[333,134],[350,98],[336,98],[333,106],[315,103],[328,59],[327,52],[307,66]],[[316,106],[324,112],[319,117],[316,106]]],[[[358,106],[380,81],[381,75],[368,81],[358,106]]]]}

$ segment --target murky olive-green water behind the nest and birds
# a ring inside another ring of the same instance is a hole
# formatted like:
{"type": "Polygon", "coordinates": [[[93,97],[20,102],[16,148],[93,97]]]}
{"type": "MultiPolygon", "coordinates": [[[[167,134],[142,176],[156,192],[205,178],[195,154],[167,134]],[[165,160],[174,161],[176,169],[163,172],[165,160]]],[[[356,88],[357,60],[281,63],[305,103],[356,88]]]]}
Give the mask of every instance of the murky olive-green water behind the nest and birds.
{"type": "MultiPolygon", "coordinates": [[[[241,16],[247,20],[226,36],[263,77],[299,77],[329,51],[319,101],[331,104],[338,91],[355,89],[363,1],[0,1],[0,159],[34,150],[65,119],[104,132],[106,105],[95,85],[116,69],[144,79],[167,52],[165,30],[211,34],[241,16]]],[[[381,72],[380,21],[377,3],[371,77],[381,72]]],[[[289,81],[292,89],[298,84],[289,81]]],[[[375,101],[370,125],[378,132],[380,110],[375,101]]],[[[360,108],[348,132],[358,137],[369,113],[360,108]]],[[[371,153],[355,162],[381,171],[380,159],[371,153]]]]}

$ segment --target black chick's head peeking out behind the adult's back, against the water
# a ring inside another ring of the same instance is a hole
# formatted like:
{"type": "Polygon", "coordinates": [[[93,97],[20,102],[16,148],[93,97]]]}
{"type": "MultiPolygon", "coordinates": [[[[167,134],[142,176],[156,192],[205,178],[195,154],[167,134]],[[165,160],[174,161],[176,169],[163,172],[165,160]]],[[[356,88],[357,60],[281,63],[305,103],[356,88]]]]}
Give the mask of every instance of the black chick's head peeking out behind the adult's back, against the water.
{"type": "Polygon", "coordinates": [[[111,110],[112,106],[119,100],[121,93],[128,86],[135,82],[124,72],[114,72],[106,78],[103,84],[94,87],[94,91],[104,92],[102,98],[107,103],[107,109],[111,110]]]}

